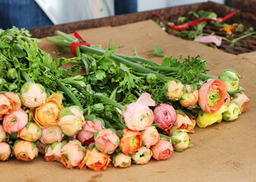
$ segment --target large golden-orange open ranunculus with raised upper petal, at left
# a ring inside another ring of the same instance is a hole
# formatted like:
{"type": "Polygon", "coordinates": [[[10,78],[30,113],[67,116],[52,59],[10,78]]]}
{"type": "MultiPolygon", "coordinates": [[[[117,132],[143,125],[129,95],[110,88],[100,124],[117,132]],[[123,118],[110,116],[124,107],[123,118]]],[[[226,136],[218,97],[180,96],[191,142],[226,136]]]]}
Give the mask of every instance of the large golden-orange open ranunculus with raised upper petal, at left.
{"type": "Polygon", "coordinates": [[[62,96],[58,93],[53,93],[43,105],[31,109],[31,113],[36,124],[44,128],[58,124],[59,112],[62,108],[64,108],[62,106],[62,96]]]}

